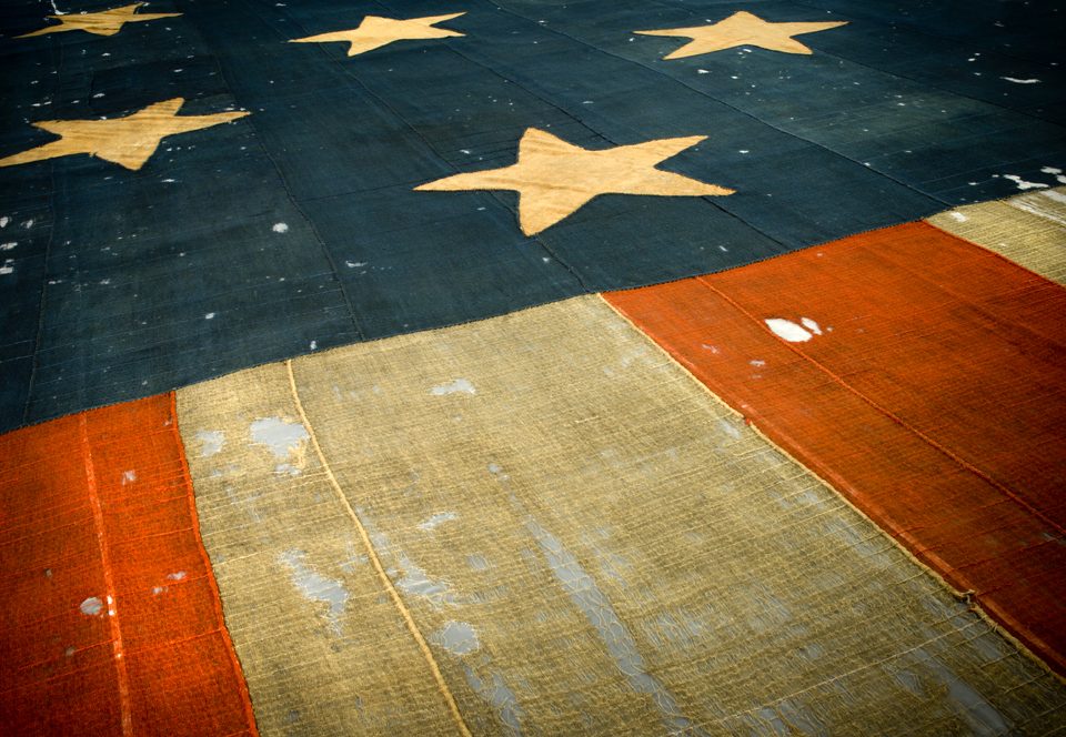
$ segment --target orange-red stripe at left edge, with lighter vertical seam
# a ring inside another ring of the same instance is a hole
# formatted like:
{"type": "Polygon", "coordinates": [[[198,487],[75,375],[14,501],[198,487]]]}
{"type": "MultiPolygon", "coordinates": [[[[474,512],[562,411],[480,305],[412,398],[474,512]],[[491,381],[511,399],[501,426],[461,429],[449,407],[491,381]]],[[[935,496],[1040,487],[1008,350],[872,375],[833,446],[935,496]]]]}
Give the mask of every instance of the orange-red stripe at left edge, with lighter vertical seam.
{"type": "Polygon", "coordinates": [[[173,396],[0,436],[0,733],[255,734],[173,396]]]}

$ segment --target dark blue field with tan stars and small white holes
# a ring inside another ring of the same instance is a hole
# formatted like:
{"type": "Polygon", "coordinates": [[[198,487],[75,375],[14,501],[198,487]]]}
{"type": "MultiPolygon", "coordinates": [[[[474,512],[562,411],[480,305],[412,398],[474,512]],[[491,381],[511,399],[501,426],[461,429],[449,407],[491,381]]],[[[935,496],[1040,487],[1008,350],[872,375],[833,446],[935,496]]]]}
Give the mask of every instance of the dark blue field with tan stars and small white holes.
{"type": "Polygon", "coordinates": [[[1054,0],[56,2],[0,3],[0,431],[1066,169],[1054,0]],[[537,134],[584,158],[485,173],[537,134]]]}

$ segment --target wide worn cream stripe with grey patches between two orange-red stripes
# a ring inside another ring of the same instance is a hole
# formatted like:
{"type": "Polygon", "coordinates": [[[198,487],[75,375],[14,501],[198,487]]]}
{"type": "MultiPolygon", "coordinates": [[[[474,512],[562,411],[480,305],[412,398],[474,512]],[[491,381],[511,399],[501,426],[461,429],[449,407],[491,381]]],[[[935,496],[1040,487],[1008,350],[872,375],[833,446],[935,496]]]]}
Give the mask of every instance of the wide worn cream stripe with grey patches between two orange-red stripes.
{"type": "Polygon", "coordinates": [[[1056,678],[599,297],[179,407],[264,733],[1066,724],[1056,678]]]}

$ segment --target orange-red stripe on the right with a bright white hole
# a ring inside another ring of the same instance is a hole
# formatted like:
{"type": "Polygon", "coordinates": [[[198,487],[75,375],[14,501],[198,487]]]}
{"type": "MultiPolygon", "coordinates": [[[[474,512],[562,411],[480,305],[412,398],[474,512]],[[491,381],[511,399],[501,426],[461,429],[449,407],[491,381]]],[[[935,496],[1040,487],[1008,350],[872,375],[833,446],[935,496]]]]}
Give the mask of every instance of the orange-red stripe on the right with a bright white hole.
{"type": "Polygon", "coordinates": [[[1066,290],[912,223],[605,297],[1066,672],[1066,290]]]}

